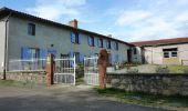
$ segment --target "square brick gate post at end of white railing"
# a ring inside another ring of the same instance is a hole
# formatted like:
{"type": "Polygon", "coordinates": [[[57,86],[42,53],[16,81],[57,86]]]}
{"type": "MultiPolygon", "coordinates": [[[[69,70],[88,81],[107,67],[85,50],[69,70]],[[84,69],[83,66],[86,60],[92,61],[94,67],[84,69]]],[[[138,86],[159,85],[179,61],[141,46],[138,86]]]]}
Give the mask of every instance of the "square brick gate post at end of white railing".
{"type": "Polygon", "coordinates": [[[53,60],[53,54],[48,54],[46,57],[46,85],[50,87],[53,84],[53,74],[54,74],[54,60],[53,60]]]}

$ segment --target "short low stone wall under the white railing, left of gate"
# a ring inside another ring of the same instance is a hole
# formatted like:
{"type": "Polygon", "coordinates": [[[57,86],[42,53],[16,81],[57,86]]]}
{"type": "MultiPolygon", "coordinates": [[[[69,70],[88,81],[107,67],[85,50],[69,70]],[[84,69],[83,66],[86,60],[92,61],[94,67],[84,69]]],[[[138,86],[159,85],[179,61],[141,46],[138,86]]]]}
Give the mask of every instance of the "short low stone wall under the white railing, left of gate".
{"type": "MultiPolygon", "coordinates": [[[[0,74],[0,78],[2,79],[2,73],[0,74]]],[[[44,71],[7,72],[6,79],[21,81],[24,83],[36,83],[36,84],[46,83],[46,77],[44,71]]]]}

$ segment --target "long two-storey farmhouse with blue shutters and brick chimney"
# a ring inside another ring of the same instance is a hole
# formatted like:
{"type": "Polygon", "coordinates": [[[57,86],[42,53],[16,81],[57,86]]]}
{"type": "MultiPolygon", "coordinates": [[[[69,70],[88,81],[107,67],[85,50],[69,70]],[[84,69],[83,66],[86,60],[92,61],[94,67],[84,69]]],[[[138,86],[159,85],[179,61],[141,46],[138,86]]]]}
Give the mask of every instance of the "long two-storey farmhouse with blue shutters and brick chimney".
{"type": "Polygon", "coordinates": [[[9,70],[12,60],[44,59],[53,53],[56,59],[75,56],[76,63],[84,57],[106,49],[109,63],[128,61],[132,44],[77,28],[77,20],[69,26],[38,18],[12,9],[0,9],[0,71],[9,70]]]}

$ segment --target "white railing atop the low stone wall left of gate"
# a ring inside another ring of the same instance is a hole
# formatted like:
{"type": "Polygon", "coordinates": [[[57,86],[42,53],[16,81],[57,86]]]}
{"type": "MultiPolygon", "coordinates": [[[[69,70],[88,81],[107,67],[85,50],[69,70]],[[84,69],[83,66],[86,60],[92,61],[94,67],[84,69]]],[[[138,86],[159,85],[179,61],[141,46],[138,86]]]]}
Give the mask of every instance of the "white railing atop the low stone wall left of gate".
{"type": "Polygon", "coordinates": [[[10,60],[8,71],[42,71],[45,69],[45,59],[10,60]]]}

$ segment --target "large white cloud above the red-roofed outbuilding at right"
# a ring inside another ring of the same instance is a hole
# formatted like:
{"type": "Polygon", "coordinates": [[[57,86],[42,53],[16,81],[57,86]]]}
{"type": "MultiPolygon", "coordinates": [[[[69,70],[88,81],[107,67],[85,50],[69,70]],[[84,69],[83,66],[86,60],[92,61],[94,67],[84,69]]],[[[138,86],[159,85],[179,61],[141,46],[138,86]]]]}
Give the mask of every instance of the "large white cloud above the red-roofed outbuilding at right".
{"type": "Polygon", "coordinates": [[[165,7],[161,7],[160,2],[149,10],[126,10],[115,21],[116,27],[124,28],[124,31],[115,33],[126,41],[187,37],[188,12],[187,8],[181,7],[182,2],[188,3],[188,0],[176,1],[165,7]]]}

